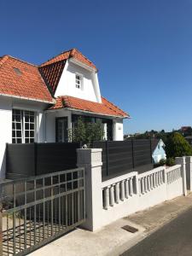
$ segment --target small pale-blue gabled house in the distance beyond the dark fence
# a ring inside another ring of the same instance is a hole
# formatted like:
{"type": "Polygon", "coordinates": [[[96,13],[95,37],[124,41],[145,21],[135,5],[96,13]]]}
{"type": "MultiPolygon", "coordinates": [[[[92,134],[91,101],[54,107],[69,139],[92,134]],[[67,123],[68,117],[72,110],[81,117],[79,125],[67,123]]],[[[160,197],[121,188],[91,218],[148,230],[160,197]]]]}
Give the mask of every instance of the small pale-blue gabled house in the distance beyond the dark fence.
{"type": "Polygon", "coordinates": [[[160,160],[166,159],[165,143],[160,139],[156,140],[156,143],[152,145],[152,158],[154,163],[157,164],[160,160]]]}

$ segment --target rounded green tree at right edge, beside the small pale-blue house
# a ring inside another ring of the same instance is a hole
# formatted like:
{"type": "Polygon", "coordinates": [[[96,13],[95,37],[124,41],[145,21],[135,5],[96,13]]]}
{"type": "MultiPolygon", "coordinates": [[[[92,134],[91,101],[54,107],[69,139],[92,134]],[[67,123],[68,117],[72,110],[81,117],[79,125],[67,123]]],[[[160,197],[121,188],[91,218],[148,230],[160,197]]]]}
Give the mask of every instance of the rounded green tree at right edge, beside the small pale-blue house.
{"type": "Polygon", "coordinates": [[[184,155],[192,155],[192,148],[180,133],[174,132],[166,142],[166,156],[175,158],[184,155]]]}

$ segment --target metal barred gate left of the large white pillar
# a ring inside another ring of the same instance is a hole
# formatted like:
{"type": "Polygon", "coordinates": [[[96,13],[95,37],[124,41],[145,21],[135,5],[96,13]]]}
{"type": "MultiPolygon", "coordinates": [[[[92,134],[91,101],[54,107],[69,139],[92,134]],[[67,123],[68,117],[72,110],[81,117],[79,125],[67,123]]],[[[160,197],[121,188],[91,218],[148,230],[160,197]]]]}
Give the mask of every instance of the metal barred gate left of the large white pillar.
{"type": "Polygon", "coordinates": [[[0,255],[26,255],[84,222],[84,168],[0,186],[0,255]]]}

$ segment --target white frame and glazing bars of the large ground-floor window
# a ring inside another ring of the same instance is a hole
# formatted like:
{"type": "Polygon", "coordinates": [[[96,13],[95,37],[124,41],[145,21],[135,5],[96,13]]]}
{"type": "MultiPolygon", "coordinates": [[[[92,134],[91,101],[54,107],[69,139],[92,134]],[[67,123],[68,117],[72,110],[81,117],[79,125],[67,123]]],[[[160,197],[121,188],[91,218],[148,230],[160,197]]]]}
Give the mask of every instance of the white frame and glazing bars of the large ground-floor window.
{"type": "Polygon", "coordinates": [[[29,142],[27,142],[27,143],[35,143],[37,140],[37,113],[32,110],[22,110],[22,109],[18,109],[18,108],[13,108],[12,116],[13,116],[13,111],[15,111],[15,110],[20,111],[20,121],[15,122],[15,119],[13,119],[13,117],[12,117],[12,133],[13,133],[13,131],[15,131],[15,137],[13,137],[13,135],[12,135],[12,143],[14,143],[13,142],[14,139],[15,139],[15,143],[18,143],[17,142],[18,137],[16,136],[16,131],[17,131],[16,125],[14,125],[15,128],[13,128],[13,124],[16,124],[16,123],[20,123],[21,137],[19,137],[19,138],[21,138],[21,143],[26,143],[26,139],[29,140],[29,142]],[[29,119],[29,122],[26,122],[26,112],[32,112],[34,114],[34,123],[33,122],[31,123],[30,119],[29,119]],[[26,130],[26,123],[28,123],[28,125],[29,125],[27,130],[26,130]],[[33,129],[31,129],[31,127],[30,127],[32,124],[34,125],[33,129]],[[29,132],[28,137],[26,137],[26,131],[29,132]],[[31,131],[34,132],[34,137],[31,137],[31,133],[30,133],[31,131]],[[30,141],[31,139],[33,139],[33,142],[30,141]]]}

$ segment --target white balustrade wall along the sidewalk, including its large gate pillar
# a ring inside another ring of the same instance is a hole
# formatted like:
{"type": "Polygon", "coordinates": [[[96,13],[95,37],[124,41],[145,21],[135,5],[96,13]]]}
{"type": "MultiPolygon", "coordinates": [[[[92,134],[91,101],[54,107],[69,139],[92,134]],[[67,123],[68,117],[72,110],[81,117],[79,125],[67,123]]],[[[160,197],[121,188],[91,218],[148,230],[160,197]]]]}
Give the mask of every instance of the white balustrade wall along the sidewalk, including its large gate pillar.
{"type": "MultiPolygon", "coordinates": [[[[189,159],[190,172],[191,162],[189,159]]],[[[104,182],[102,149],[78,149],[78,166],[85,169],[84,228],[92,231],[187,193],[185,158],[177,158],[176,166],[160,166],[141,174],[131,172],[104,182]]]]}

